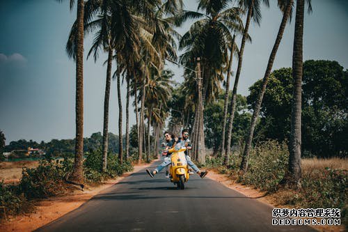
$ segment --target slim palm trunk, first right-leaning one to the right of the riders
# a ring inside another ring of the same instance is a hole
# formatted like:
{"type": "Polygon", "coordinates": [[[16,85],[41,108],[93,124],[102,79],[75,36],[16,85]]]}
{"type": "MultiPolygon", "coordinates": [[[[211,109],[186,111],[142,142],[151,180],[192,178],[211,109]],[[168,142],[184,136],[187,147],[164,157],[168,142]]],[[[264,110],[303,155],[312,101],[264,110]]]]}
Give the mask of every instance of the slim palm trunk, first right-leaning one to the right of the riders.
{"type": "Polygon", "coordinates": [[[227,68],[226,92],[225,92],[225,101],[224,101],[224,104],[223,104],[223,126],[222,126],[222,139],[221,139],[221,148],[220,148],[221,155],[223,155],[225,153],[225,137],[226,137],[226,123],[227,123],[227,109],[228,109],[228,92],[230,91],[230,75],[231,75],[233,53],[235,52],[235,38],[236,38],[236,36],[233,35],[232,48],[231,48],[231,54],[230,54],[230,62],[228,62],[228,68],[227,68]]]}

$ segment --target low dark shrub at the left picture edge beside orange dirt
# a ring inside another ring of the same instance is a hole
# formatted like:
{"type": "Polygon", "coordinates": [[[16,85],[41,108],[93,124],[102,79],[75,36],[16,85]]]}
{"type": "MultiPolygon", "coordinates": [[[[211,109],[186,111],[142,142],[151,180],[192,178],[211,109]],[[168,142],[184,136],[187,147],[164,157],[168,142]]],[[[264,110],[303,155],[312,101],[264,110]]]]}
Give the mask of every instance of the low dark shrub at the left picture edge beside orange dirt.
{"type": "MultiPolygon", "coordinates": [[[[6,215],[17,215],[20,212],[29,212],[33,205],[24,194],[19,192],[17,185],[5,185],[0,182],[0,206],[4,206],[6,215]]],[[[0,218],[4,217],[3,210],[0,210],[0,218]]]]}

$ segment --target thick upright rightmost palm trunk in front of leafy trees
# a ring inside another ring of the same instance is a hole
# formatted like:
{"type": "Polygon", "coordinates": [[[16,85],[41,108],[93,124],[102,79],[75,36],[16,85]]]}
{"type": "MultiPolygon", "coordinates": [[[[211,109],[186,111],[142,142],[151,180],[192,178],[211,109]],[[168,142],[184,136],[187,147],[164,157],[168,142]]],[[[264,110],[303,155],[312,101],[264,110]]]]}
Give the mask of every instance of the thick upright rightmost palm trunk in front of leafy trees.
{"type": "Polygon", "coordinates": [[[289,143],[289,166],[282,183],[292,187],[300,186],[301,178],[301,91],[303,72],[303,17],[304,0],[296,1],[294,53],[292,54],[292,77],[294,92],[292,98],[291,133],[289,143]]]}

